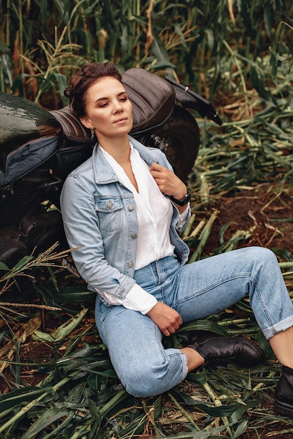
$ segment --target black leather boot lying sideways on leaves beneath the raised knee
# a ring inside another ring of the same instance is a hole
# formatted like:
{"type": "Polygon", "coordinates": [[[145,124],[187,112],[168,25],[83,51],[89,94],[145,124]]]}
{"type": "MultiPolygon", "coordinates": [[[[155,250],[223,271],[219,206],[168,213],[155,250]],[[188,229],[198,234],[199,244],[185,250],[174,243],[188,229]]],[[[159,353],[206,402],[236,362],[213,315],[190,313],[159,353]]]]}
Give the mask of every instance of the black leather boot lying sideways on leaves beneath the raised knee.
{"type": "Polygon", "coordinates": [[[256,343],[243,337],[223,337],[214,332],[200,331],[188,347],[200,353],[204,365],[231,362],[253,367],[264,358],[263,351],[256,343]]]}

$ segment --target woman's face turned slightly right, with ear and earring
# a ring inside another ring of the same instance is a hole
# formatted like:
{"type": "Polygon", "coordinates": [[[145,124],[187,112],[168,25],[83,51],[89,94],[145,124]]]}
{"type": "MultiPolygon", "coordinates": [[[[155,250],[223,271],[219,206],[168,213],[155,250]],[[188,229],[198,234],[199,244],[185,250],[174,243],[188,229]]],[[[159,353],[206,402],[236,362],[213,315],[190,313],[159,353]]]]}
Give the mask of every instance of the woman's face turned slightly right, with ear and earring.
{"type": "Polygon", "coordinates": [[[94,128],[99,142],[129,133],[132,105],[120,81],[112,76],[100,78],[88,88],[85,98],[86,116],[81,121],[94,128]]]}

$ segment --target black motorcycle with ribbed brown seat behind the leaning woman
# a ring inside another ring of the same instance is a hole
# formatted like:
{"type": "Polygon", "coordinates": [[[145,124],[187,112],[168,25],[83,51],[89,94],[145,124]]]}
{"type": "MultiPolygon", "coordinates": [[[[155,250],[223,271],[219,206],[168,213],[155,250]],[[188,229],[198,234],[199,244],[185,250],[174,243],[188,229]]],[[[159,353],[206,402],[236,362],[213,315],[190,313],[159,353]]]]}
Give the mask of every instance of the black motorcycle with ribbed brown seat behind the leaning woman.
{"type": "MultiPolygon", "coordinates": [[[[214,107],[188,87],[129,69],[122,81],[133,104],[131,135],[162,149],[186,180],[200,145],[188,112],[221,125],[214,107]]],[[[68,107],[47,112],[22,97],[0,93],[0,261],[12,267],[25,255],[59,241],[66,248],[59,197],[68,173],[91,156],[93,140],[68,107]]]]}

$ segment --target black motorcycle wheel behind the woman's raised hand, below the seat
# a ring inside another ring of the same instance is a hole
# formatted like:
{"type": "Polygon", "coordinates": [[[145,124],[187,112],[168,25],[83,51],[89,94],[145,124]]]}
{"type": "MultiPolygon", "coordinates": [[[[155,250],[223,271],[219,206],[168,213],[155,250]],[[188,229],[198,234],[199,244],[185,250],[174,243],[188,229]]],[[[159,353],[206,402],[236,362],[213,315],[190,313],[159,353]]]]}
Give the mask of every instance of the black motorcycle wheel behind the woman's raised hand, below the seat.
{"type": "Polygon", "coordinates": [[[164,153],[174,169],[174,173],[186,182],[193,169],[200,147],[200,129],[188,110],[175,105],[169,119],[155,135],[164,142],[164,153]]]}

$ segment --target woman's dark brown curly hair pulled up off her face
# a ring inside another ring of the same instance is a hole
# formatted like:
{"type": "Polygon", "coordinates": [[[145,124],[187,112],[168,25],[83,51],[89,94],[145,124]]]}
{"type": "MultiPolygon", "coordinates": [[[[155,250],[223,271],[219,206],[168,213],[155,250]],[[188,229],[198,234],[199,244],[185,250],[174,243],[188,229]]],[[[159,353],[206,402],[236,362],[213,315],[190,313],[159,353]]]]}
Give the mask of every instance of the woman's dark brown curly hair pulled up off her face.
{"type": "Polygon", "coordinates": [[[85,64],[79,72],[75,73],[68,81],[64,90],[66,97],[69,97],[70,108],[79,117],[86,116],[85,95],[88,88],[105,76],[112,76],[122,82],[122,76],[112,62],[92,62],[85,64]]]}

